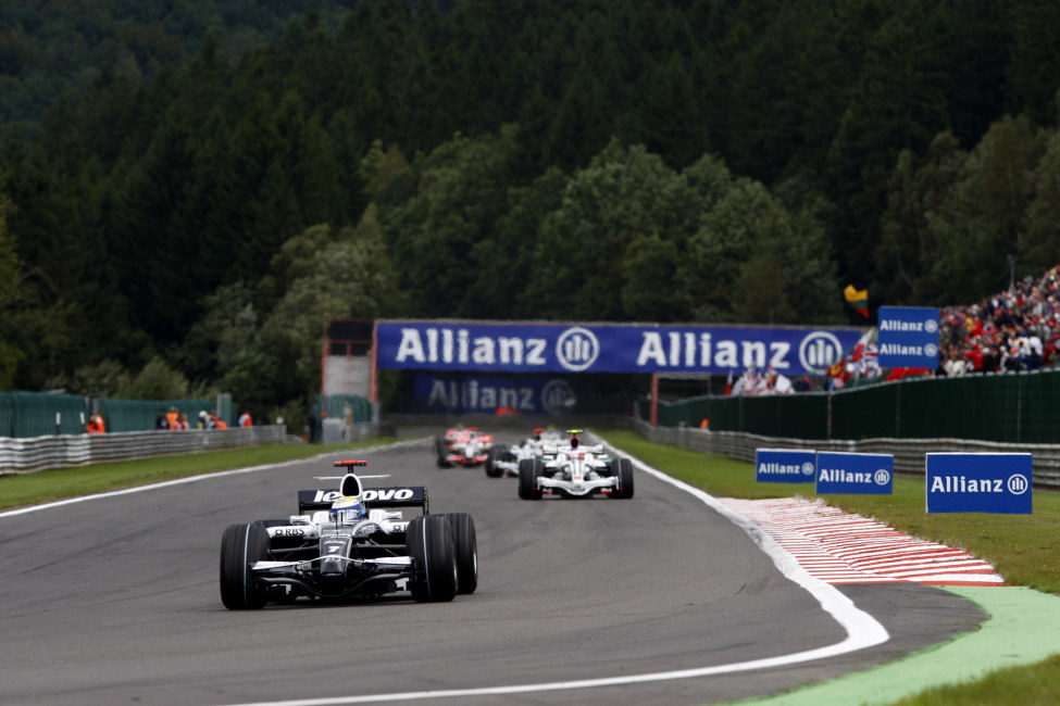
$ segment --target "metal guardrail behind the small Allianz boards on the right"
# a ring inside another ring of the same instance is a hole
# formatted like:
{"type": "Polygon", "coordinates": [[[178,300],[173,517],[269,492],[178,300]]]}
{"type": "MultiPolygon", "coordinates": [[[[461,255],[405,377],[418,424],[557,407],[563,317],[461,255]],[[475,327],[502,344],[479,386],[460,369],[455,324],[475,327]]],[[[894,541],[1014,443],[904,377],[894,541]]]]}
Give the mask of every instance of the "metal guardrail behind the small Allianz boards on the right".
{"type": "Polygon", "coordinates": [[[971,439],[862,439],[860,441],[780,439],[745,431],[709,431],[693,427],[652,427],[632,420],[631,426],[649,441],[701,451],[737,461],[755,462],[756,449],[810,449],[848,453],[880,453],[895,456],[895,470],[923,476],[928,452],[1020,452],[1032,454],[1034,482],[1060,488],[1060,445],[1003,443],[971,439]]]}

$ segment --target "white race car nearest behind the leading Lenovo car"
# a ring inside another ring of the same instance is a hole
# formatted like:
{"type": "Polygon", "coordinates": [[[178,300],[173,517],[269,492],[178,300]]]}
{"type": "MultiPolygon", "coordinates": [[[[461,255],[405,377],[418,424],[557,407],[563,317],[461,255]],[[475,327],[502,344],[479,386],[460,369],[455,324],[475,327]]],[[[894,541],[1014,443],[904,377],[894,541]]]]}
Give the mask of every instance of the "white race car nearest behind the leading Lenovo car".
{"type": "Polygon", "coordinates": [[[561,497],[587,497],[597,493],[633,497],[633,462],[611,458],[603,445],[583,446],[572,429],[569,444],[546,446],[540,458],[519,462],[519,496],[540,500],[545,493],[561,497]]]}

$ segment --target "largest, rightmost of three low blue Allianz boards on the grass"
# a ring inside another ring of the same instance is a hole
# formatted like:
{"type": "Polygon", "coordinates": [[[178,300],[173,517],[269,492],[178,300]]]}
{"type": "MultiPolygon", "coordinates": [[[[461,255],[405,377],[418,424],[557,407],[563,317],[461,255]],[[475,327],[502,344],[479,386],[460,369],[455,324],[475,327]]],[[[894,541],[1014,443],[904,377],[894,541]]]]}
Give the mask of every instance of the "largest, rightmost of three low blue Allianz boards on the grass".
{"type": "Polygon", "coordinates": [[[1031,514],[1031,454],[927,454],[928,513],[1031,514]]]}

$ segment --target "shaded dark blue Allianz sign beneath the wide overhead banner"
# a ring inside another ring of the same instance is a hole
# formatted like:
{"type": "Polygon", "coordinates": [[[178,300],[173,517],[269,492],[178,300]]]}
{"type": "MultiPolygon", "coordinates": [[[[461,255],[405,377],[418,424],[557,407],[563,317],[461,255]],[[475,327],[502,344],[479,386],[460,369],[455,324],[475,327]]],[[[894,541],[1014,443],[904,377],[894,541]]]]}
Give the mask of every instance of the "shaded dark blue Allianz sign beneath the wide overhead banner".
{"type": "Polygon", "coordinates": [[[562,378],[492,378],[416,375],[413,406],[416,412],[492,414],[511,407],[520,414],[563,414],[577,402],[574,390],[562,378]]]}

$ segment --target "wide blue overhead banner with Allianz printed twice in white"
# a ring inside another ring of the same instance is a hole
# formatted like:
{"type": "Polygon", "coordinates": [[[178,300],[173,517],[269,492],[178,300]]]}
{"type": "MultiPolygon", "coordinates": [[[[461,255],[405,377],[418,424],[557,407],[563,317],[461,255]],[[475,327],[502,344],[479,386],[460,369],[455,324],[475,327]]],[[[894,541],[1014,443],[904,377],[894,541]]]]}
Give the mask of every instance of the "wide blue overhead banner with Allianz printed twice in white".
{"type": "Polygon", "coordinates": [[[816,375],[857,329],[378,322],[376,365],[484,373],[714,373],[772,367],[816,375]]]}

